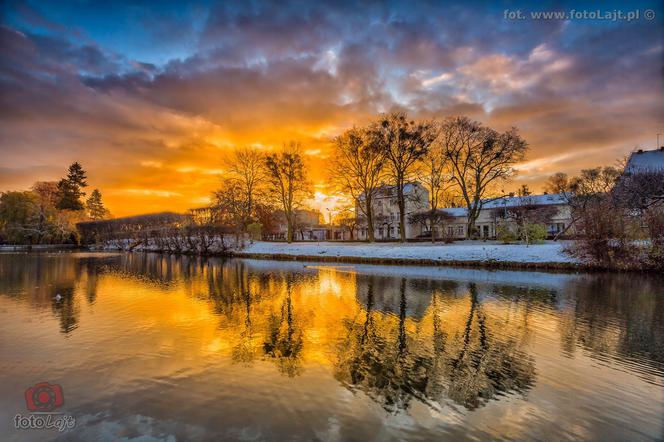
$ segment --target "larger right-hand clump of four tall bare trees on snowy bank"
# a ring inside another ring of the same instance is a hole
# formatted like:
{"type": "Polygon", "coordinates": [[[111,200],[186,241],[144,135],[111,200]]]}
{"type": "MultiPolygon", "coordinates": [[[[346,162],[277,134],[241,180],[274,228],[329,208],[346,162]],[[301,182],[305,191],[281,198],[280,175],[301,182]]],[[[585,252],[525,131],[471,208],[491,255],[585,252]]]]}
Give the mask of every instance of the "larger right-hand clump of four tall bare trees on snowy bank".
{"type": "MultiPolygon", "coordinates": [[[[347,130],[334,140],[330,179],[358,201],[374,241],[374,198],[384,183],[396,189],[399,236],[406,241],[405,186],[418,179],[429,191],[430,225],[443,195],[454,191],[468,208],[468,232],[475,232],[482,201],[500,180],[514,174],[527,143],[516,128],[500,133],[467,117],[413,121],[403,112],[379,116],[364,127],[347,130]]],[[[433,233],[433,228],[431,228],[433,233]]]]}

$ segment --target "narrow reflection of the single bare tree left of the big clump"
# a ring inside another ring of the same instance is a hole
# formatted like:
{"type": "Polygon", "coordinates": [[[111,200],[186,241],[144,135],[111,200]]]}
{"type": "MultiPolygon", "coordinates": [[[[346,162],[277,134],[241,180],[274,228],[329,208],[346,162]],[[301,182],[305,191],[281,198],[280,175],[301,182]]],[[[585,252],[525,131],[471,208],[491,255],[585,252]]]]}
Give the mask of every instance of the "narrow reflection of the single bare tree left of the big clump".
{"type": "Polygon", "coordinates": [[[297,326],[293,314],[293,281],[286,277],[286,298],[279,314],[270,313],[267,336],[263,343],[266,355],[278,361],[279,370],[289,377],[301,370],[301,352],[304,344],[302,330],[297,326]]]}

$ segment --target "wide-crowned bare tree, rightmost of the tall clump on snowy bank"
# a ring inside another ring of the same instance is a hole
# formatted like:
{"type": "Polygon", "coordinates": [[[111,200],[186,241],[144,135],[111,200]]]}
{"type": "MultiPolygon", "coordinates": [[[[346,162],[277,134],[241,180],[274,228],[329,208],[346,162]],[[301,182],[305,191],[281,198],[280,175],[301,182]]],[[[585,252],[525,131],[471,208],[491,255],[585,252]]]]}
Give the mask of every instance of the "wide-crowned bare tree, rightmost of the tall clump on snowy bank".
{"type": "Polygon", "coordinates": [[[525,157],[528,144],[516,128],[500,134],[467,117],[447,119],[439,136],[452,167],[452,179],[468,207],[471,236],[490,186],[514,174],[513,166],[525,157]]]}

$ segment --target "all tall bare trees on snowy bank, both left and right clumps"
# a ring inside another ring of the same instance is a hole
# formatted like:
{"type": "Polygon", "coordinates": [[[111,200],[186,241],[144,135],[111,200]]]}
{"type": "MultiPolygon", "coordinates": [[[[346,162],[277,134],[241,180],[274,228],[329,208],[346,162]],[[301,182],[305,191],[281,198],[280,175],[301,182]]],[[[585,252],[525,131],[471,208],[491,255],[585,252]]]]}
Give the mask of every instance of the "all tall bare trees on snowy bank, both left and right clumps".
{"type": "MultiPolygon", "coordinates": [[[[354,229],[366,223],[373,241],[376,216],[372,203],[382,186],[389,184],[396,190],[399,235],[405,241],[405,186],[417,179],[429,190],[431,211],[425,221],[435,224],[439,218],[436,209],[454,188],[468,207],[469,231],[474,232],[483,198],[493,184],[513,175],[514,164],[526,151],[527,143],[514,128],[500,133],[466,117],[413,121],[403,112],[382,114],[367,126],[354,127],[334,139],[330,182],[350,201],[359,202],[359,210],[340,210],[340,224],[354,229]]],[[[274,224],[276,210],[287,226],[287,241],[292,241],[297,210],[311,196],[301,152],[295,141],[269,154],[254,148],[234,151],[214,193],[216,222],[238,232],[265,229],[274,224]]]]}

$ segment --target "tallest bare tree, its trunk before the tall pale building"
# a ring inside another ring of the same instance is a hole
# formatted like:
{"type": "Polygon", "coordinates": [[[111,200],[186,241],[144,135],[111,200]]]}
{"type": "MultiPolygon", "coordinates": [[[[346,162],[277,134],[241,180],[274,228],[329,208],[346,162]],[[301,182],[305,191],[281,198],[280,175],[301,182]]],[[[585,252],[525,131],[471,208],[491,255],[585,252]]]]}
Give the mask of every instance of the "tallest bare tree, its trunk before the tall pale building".
{"type": "Polygon", "coordinates": [[[404,187],[414,177],[418,161],[435,138],[434,126],[430,122],[409,121],[403,112],[392,112],[373,123],[371,131],[385,150],[386,171],[397,191],[400,240],[406,242],[404,187]]]}

